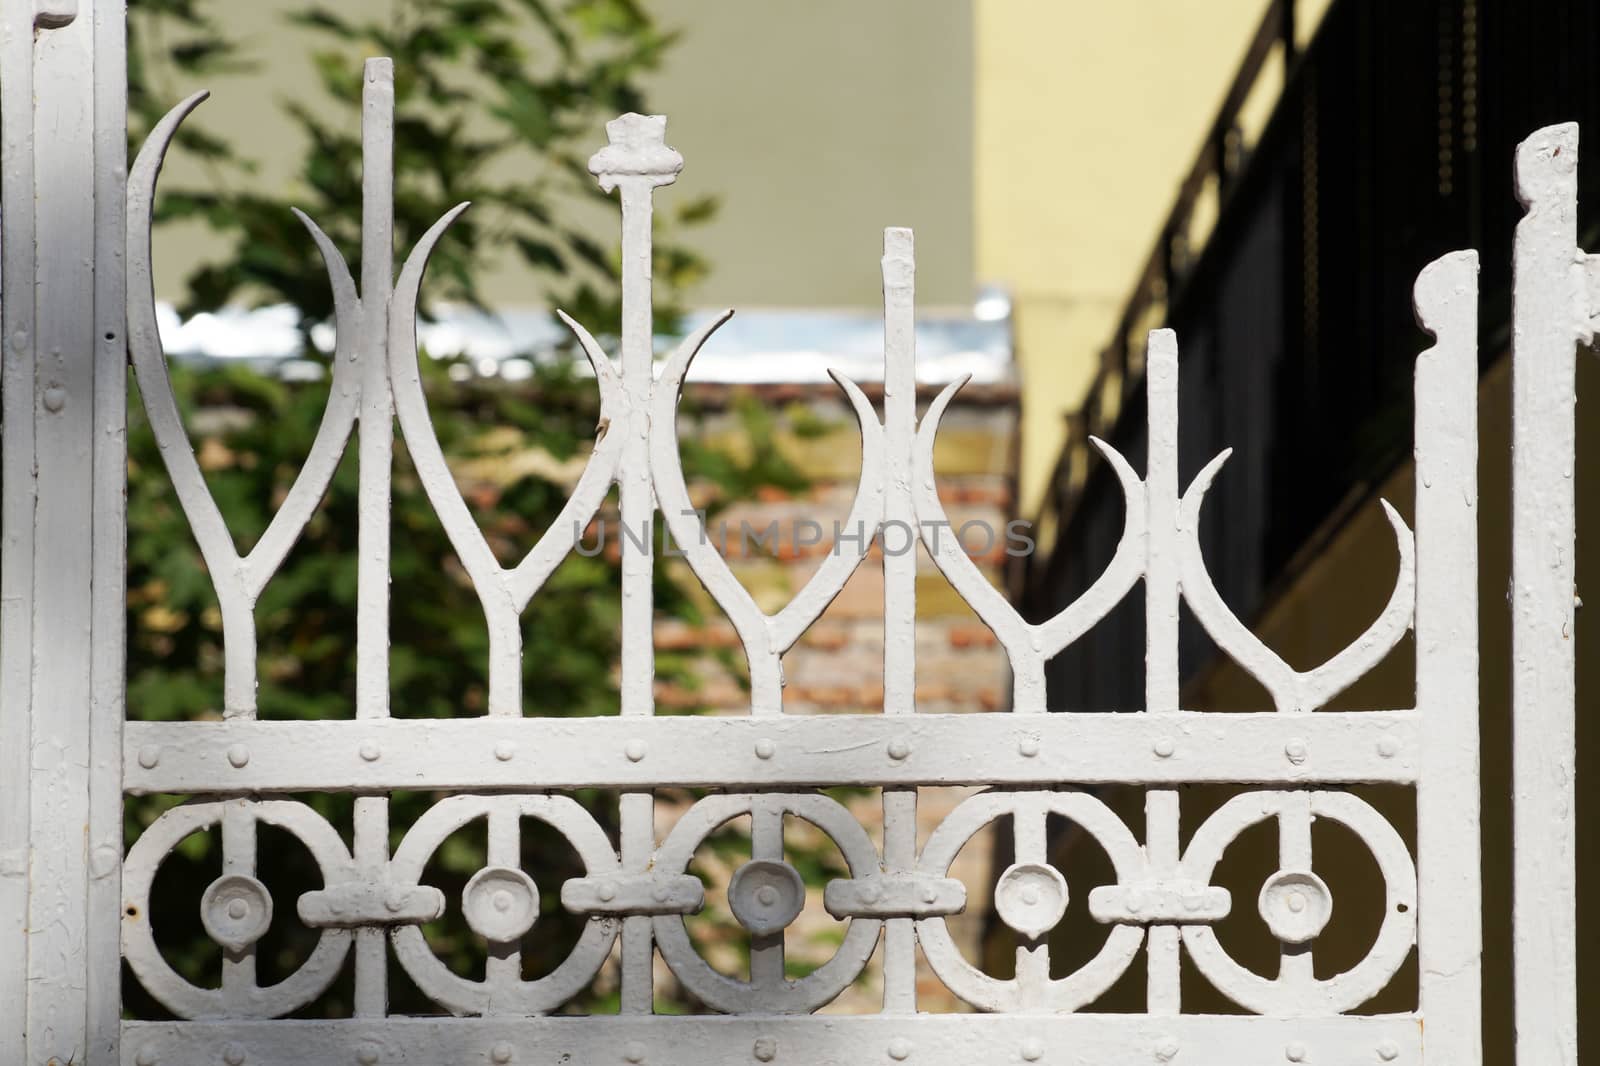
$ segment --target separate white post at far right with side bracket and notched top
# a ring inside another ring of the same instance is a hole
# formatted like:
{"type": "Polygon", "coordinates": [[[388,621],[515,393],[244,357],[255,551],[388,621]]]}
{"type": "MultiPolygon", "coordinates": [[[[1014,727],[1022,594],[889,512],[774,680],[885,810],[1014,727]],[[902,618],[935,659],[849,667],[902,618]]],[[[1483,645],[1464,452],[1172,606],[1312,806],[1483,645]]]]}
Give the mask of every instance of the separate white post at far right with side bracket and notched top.
{"type": "Polygon", "coordinates": [[[1512,306],[1512,948],[1517,1061],[1578,1063],[1574,848],[1578,126],[1517,146],[1512,306]]]}

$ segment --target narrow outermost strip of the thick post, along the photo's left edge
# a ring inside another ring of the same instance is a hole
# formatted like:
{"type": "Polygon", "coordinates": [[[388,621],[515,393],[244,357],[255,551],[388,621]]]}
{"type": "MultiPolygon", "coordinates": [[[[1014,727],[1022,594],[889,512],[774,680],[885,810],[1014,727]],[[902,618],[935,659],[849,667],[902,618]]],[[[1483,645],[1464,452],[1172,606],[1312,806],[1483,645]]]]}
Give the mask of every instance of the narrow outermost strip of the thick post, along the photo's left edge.
{"type": "Polygon", "coordinates": [[[34,690],[34,10],[0,6],[0,1061],[27,1056],[29,751],[34,690]]]}

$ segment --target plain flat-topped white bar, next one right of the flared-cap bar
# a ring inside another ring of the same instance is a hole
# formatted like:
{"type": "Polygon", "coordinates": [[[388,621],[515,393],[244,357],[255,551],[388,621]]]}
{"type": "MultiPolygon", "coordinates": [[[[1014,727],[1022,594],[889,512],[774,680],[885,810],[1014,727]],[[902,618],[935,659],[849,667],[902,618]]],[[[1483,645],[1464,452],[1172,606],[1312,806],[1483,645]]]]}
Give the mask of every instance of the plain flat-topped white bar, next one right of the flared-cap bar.
{"type": "MultiPolygon", "coordinates": [[[[917,248],[909,229],[883,230],[883,714],[917,712],[917,248]]],[[[891,752],[893,755],[893,752],[891,752]]],[[[917,789],[883,789],[883,861],[917,863],[917,789]]],[[[883,932],[883,1010],[917,1010],[917,924],[888,919],[883,932]]]]}

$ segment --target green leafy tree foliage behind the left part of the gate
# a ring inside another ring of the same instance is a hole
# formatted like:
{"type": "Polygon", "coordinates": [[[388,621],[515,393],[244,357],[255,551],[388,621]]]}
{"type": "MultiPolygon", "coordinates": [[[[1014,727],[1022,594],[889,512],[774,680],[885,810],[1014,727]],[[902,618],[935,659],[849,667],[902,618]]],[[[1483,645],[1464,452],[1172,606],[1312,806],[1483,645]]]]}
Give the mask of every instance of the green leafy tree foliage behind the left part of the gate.
{"type": "MultiPolygon", "coordinates": [[[[130,99],[133,138],[179,98],[248,56],[219,24],[222,0],[134,0],[130,99]]],[[[632,0],[397,0],[394,18],[360,21],[341,5],[314,5],[293,16],[326,48],[317,53],[322,98],[285,104],[306,134],[293,203],[302,206],[352,256],[360,246],[360,64],[389,54],[397,74],[395,214],[403,253],[459,200],[477,206],[434,258],[429,293],[478,303],[478,282],[501,254],[539,272],[544,295],[597,333],[619,320],[618,254],[611,242],[565,219],[565,208],[603,198],[584,170],[606,118],[642,109],[638,77],[653,69],[672,35],[632,0]],[[507,174],[510,174],[507,178],[507,174]]],[[[158,222],[203,219],[226,253],[187,279],[187,311],[230,301],[290,304],[306,336],[331,314],[320,261],[290,213],[291,200],[250,179],[251,163],[202,122],[179,150],[206,165],[203,187],[163,189],[158,222]]],[[[706,200],[680,208],[658,234],[658,299],[670,327],[672,296],[701,264],[670,234],[706,218],[706,200]]],[[[594,214],[594,211],[590,211],[594,214]]],[[[578,213],[581,216],[581,211],[578,213]]],[[[600,216],[614,219],[614,208],[600,216]]],[[[614,221],[611,221],[614,226],[614,221]]],[[[352,267],[358,269],[352,261],[352,267]]],[[[530,295],[531,296],[531,295],[530,295]]],[[[307,359],[320,359],[307,343],[307,359]]],[[[502,562],[522,555],[555,519],[568,488],[552,471],[581,459],[594,440],[594,383],[563,367],[533,381],[453,381],[443,362],[424,359],[434,423],[469,503],[502,562]]],[[[259,368],[181,365],[174,389],[206,480],[242,549],[266,530],[315,435],[328,384],[294,384],[259,368]]],[[[752,408],[749,463],[714,455],[686,435],[691,475],[714,480],[725,498],[763,483],[802,483],[773,447],[773,426],[752,408]]],[[[326,499],[267,586],[256,608],[259,712],[264,719],[350,715],[355,648],[357,469],[354,447],[326,499]]],[[[130,714],[142,720],[218,717],[222,634],[216,597],[162,467],[160,451],[134,399],[130,411],[128,634],[130,714]]],[[[403,445],[397,448],[392,522],[392,707],[398,717],[482,714],[486,634],[477,595],[422,495],[403,445]]],[[[694,600],[658,570],[658,610],[698,621],[694,600]]],[[[619,571],[614,554],[573,555],[525,616],[525,707],[539,715],[616,712],[619,571]]],[[[688,666],[662,656],[658,671],[686,679],[688,666]]],[[[344,797],[299,797],[349,834],[344,797]]],[[[392,797],[394,840],[437,797],[392,797]]],[[[614,797],[582,799],[613,826],[614,797]]],[[[130,844],[179,797],[130,800],[130,844]]],[[[464,975],[482,975],[483,944],[459,919],[459,892],[483,864],[478,824],[440,848],[429,882],[451,901],[427,933],[464,975]],[[475,834],[475,836],[474,836],[475,834]]],[[[525,824],[525,855],[538,872],[544,916],[525,944],[525,972],[549,972],[581,924],[562,912],[558,885],[581,872],[560,837],[525,824]],[[536,856],[536,858],[534,858],[536,856]]],[[[288,901],[315,888],[310,856],[290,837],[262,829],[261,877],[280,900],[259,944],[262,984],[290,973],[309,952],[288,901]]],[[[197,983],[214,984],[221,954],[198,924],[198,895],[219,871],[218,840],[197,834],[162,868],[150,920],[170,962],[197,983]]],[[[350,1004],[349,967],[333,994],[307,1008],[342,1015],[350,1004]]],[[[160,1016],[134,981],[128,1004],[160,1016]]],[[[606,989],[579,1004],[603,1008],[606,989]]],[[[398,1012],[430,1005],[392,967],[398,1012]]],[[[678,1007],[683,1004],[664,1004],[678,1007]]]]}

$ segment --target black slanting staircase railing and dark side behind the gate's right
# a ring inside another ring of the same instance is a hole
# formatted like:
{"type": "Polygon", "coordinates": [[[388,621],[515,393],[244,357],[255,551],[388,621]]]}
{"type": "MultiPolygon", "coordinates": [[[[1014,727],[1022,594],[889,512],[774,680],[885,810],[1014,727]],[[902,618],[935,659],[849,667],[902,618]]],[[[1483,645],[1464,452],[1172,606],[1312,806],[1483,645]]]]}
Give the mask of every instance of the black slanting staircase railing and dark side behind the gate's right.
{"type": "MultiPolygon", "coordinates": [[[[1054,547],[1018,575],[1030,616],[1070,602],[1110,559],[1122,495],[1083,443],[1094,434],[1142,463],[1147,328],[1178,330],[1186,483],[1235,448],[1202,539],[1246,619],[1410,453],[1411,368],[1427,344],[1405,298],[1418,271],[1478,248],[1485,363],[1506,351],[1512,149],[1554,122],[1600,128],[1600,5],[1334,0],[1299,53],[1291,6],[1269,6],[1072,419],[1040,517],[1054,547]],[[1245,101],[1275,53],[1283,90],[1250,144],[1245,101]],[[1197,248],[1189,230],[1211,189],[1216,221],[1197,248]]],[[[1600,166],[1581,176],[1581,200],[1600,198],[1600,166]]],[[[1138,603],[1126,615],[1056,659],[1053,706],[1138,695],[1138,603]]],[[[1211,655],[1186,626],[1186,669],[1211,655]]]]}

